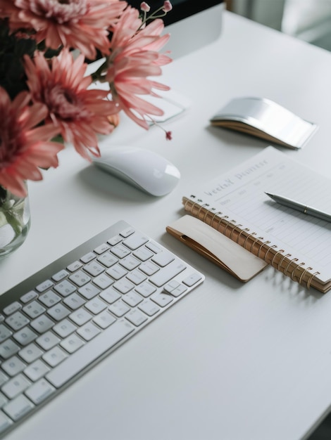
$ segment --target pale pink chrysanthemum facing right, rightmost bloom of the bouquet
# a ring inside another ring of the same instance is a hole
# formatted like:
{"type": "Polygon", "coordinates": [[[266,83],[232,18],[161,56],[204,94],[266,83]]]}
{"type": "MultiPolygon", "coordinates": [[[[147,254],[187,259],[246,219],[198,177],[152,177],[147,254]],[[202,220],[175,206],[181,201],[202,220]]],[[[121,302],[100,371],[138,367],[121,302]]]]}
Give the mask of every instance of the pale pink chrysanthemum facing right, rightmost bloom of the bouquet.
{"type": "Polygon", "coordinates": [[[163,115],[163,111],[137,95],[157,96],[154,89],[170,89],[148,79],[161,75],[161,66],[172,61],[168,56],[158,53],[170,37],[169,34],[161,37],[163,28],[163,20],[160,19],[144,27],[139,11],[130,6],[113,27],[106,79],[111,86],[113,101],[145,129],[148,129],[146,117],[163,115]]]}

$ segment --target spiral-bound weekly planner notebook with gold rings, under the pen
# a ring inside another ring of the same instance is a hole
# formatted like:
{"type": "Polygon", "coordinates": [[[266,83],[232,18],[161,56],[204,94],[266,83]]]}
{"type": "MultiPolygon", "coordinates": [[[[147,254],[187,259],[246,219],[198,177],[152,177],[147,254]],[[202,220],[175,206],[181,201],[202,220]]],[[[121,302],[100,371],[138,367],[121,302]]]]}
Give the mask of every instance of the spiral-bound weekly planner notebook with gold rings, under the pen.
{"type": "Polygon", "coordinates": [[[270,200],[286,195],[331,212],[331,180],[269,146],[183,197],[185,211],[292,280],[331,288],[331,223],[270,200]]]}

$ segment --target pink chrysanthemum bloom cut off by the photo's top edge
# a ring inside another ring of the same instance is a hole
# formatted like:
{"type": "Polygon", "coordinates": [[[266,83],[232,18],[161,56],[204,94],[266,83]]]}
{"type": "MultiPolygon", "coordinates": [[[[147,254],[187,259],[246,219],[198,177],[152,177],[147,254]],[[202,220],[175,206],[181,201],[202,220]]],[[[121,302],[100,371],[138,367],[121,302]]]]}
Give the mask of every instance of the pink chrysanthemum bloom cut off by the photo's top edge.
{"type": "Polygon", "coordinates": [[[37,42],[49,48],[77,48],[87,58],[96,57],[96,48],[109,53],[108,29],[127,6],[119,0],[0,0],[0,13],[11,13],[11,29],[32,27],[37,42]],[[13,6],[14,5],[14,6],[13,6]],[[1,12],[2,11],[2,12],[1,12]]]}

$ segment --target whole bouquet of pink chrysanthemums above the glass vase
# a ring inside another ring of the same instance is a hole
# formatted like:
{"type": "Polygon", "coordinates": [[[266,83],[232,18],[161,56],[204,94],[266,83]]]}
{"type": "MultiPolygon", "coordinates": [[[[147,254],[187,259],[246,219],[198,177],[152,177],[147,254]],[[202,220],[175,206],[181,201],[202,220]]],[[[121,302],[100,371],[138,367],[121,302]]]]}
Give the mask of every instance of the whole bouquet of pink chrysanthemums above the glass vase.
{"type": "MultiPolygon", "coordinates": [[[[163,111],[142,96],[168,90],[154,79],[170,63],[169,39],[157,11],[123,0],[0,0],[0,188],[26,195],[25,181],[58,166],[63,142],[80,155],[100,155],[123,110],[148,129],[163,111]],[[92,75],[88,61],[102,58],[92,75]],[[108,83],[108,90],[91,87],[108,83]]],[[[170,132],[166,132],[171,138],[170,132]]],[[[1,194],[0,194],[1,195],[1,194]]],[[[0,199],[1,203],[1,199],[0,199]]]]}

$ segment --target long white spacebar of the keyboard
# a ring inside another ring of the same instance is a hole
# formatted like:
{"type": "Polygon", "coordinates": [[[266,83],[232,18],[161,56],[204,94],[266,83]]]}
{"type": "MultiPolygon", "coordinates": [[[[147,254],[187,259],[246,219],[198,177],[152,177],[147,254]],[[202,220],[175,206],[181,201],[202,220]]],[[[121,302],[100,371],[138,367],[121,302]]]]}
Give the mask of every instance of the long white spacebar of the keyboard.
{"type": "Polygon", "coordinates": [[[63,362],[46,374],[46,379],[59,388],[95,361],[105,351],[111,349],[120,339],[135,330],[125,319],[113,323],[99,335],[70,354],[63,362]]]}

